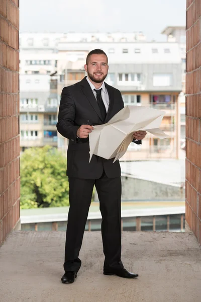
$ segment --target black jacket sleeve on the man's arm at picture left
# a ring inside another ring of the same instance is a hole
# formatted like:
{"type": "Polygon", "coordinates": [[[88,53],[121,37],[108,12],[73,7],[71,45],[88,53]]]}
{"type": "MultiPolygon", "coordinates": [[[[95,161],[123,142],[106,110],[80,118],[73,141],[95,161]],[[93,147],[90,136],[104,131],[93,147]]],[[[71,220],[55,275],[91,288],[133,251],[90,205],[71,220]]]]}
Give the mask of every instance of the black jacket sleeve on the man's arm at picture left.
{"type": "Polygon", "coordinates": [[[76,134],[79,126],[74,125],[75,103],[68,87],[64,87],[61,93],[57,130],[64,137],[76,142],[76,134]]]}

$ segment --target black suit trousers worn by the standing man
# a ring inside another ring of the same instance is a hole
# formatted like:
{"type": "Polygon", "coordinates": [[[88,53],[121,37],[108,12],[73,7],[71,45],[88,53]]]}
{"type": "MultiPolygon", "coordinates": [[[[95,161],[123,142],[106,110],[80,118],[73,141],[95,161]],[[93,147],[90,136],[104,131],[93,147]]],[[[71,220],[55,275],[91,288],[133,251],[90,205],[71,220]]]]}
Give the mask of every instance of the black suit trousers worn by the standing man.
{"type": "Polygon", "coordinates": [[[65,271],[78,272],[82,244],[93,186],[98,194],[102,214],[104,269],[123,268],[121,262],[121,177],[108,178],[105,172],[99,179],[69,177],[68,223],[65,244],[65,271]]]}

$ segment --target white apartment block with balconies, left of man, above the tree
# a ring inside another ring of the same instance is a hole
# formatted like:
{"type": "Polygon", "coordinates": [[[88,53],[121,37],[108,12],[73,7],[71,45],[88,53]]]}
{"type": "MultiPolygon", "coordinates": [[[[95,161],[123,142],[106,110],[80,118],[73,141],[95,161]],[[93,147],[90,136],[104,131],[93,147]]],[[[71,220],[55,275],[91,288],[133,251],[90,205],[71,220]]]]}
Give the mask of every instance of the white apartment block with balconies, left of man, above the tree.
{"type": "Polygon", "coordinates": [[[63,34],[20,34],[20,147],[57,147],[57,45],[63,34]]]}

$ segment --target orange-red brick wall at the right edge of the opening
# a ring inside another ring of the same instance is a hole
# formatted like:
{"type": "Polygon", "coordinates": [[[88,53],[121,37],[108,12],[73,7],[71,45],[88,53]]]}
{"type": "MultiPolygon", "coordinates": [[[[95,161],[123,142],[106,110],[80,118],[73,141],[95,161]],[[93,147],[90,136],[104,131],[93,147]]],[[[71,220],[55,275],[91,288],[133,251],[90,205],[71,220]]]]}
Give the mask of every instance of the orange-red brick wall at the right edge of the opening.
{"type": "Polygon", "coordinates": [[[185,218],[201,244],[201,0],[186,4],[185,218]]]}

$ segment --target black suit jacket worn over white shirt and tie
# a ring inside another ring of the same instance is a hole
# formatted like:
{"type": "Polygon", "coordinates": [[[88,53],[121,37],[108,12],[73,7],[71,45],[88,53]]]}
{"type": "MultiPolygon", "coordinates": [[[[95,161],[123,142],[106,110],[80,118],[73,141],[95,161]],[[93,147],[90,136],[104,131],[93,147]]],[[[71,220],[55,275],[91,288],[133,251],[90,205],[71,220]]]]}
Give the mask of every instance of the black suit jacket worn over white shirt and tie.
{"type": "MultiPolygon", "coordinates": [[[[105,170],[109,178],[121,176],[119,161],[106,160],[93,155],[89,163],[88,139],[76,140],[77,129],[83,124],[107,123],[123,107],[124,102],[118,89],[105,83],[110,104],[105,121],[86,77],[74,85],[64,87],[61,94],[57,130],[69,139],[67,151],[67,175],[84,179],[98,179],[105,170]]],[[[141,140],[136,143],[140,144],[141,140]]]]}

